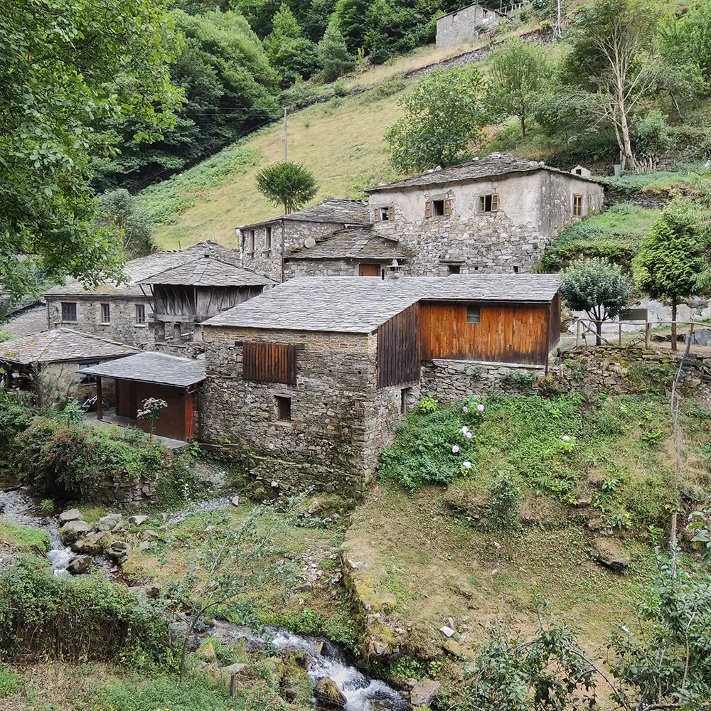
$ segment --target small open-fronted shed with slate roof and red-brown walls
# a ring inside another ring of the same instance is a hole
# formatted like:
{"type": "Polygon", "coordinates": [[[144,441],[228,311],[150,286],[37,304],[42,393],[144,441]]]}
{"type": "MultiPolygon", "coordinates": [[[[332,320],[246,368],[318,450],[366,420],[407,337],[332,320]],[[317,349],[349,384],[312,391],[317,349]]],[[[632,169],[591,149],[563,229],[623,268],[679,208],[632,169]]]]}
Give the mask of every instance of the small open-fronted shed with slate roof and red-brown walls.
{"type": "Polygon", "coordinates": [[[167,403],[154,421],[154,434],[183,441],[193,439],[198,431],[199,387],[205,380],[205,361],[156,351],[137,353],[123,360],[86,370],[97,382],[97,419],[105,417],[102,379],[110,378],[116,389],[112,419],[117,424],[137,425],[148,432],[150,422],[136,416],[141,403],[154,397],[167,403]]]}

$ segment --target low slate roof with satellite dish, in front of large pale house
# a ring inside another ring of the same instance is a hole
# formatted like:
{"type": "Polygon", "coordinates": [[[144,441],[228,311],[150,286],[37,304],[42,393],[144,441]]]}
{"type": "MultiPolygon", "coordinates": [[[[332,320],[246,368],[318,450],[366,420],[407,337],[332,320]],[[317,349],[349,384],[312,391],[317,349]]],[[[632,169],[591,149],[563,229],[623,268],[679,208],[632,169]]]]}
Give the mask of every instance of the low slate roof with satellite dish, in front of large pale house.
{"type": "Polygon", "coordinates": [[[317,242],[315,247],[298,247],[287,260],[405,260],[410,250],[397,240],[376,235],[369,228],[341,230],[317,242]]]}

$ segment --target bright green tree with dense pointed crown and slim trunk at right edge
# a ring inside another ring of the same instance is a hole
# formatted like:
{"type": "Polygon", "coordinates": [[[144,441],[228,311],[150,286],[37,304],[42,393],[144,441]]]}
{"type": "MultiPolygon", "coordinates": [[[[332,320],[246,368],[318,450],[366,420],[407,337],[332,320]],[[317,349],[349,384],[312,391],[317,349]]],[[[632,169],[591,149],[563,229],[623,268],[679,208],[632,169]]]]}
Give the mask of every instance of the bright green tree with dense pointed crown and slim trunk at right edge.
{"type": "Polygon", "coordinates": [[[683,299],[707,292],[698,277],[708,268],[709,215],[679,198],[665,208],[632,262],[638,289],[671,303],[671,347],[676,350],[676,313],[683,299]]]}

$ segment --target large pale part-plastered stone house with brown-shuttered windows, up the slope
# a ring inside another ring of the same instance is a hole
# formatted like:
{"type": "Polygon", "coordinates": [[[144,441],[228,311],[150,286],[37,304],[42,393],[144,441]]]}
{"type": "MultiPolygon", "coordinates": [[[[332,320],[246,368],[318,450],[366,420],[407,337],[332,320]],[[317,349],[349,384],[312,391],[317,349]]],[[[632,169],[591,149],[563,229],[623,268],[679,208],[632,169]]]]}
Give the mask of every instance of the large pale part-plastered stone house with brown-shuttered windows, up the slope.
{"type": "Polygon", "coordinates": [[[373,232],[412,253],[408,274],[529,272],[574,220],[602,210],[602,185],[491,154],[368,191],[373,232]]]}

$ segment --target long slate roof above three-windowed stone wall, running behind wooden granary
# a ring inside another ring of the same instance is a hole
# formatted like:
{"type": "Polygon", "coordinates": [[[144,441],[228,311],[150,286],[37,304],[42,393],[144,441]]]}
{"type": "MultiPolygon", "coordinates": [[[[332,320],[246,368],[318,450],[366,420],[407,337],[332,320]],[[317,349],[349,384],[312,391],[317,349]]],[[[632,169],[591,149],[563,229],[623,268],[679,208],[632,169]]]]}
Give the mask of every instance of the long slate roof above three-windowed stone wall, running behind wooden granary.
{"type": "MultiPolygon", "coordinates": [[[[193,262],[198,257],[209,254],[219,257],[221,261],[238,265],[240,255],[229,247],[218,245],[216,240],[198,242],[196,245],[186,247],[184,250],[171,252],[154,252],[146,257],[139,257],[137,260],[130,260],[124,267],[124,274],[127,277],[127,284],[100,284],[98,287],[86,288],[77,279],[69,278],[65,284],[48,289],[45,293],[48,296],[71,296],[106,294],[124,294],[125,296],[144,296],[141,288],[137,285],[152,274],[164,272],[166,269],[178,267],[186,262],[193,262]]],[[[145,282],[144,282],[145,283],[145,282]]]]}

